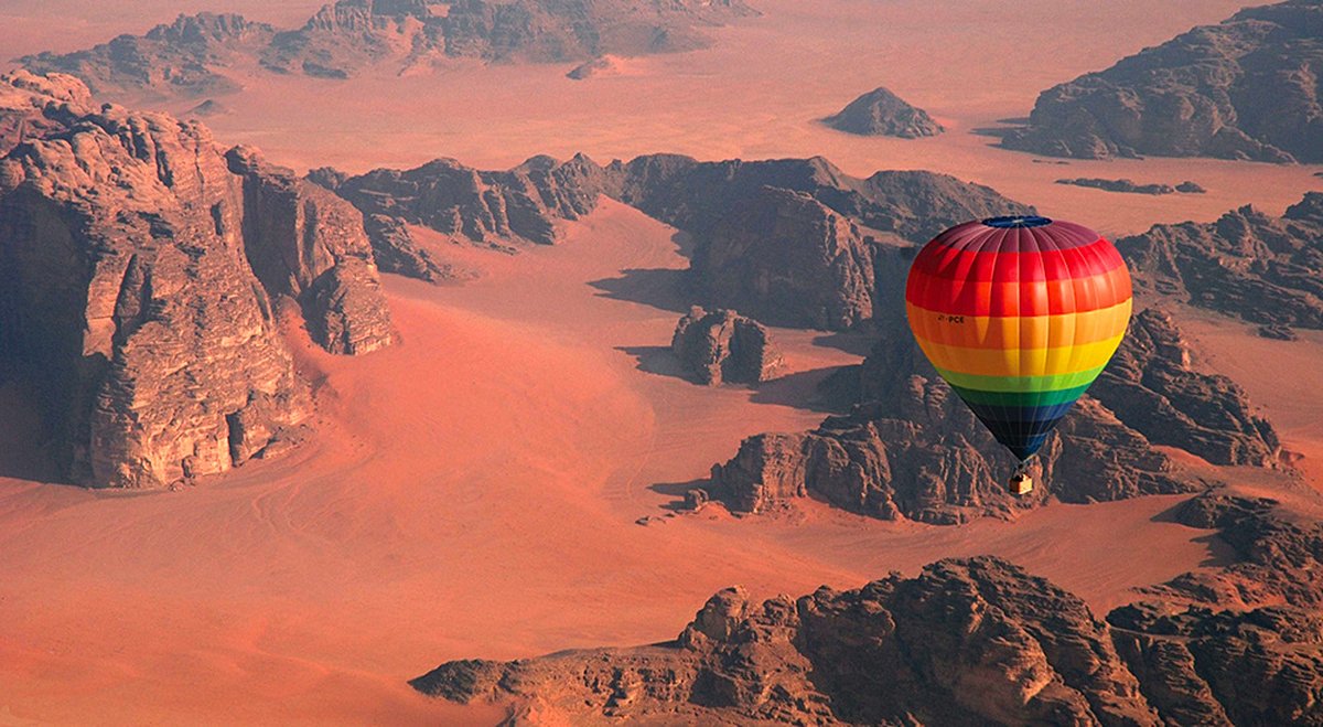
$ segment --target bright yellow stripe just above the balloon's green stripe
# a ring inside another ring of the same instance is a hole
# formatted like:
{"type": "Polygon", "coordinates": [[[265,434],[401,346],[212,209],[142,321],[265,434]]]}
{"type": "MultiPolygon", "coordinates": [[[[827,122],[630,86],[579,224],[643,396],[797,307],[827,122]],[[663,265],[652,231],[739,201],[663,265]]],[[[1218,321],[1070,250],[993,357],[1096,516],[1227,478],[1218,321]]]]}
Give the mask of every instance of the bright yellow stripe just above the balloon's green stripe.
{"type": "Polygon", "coordinates": [[[1049,376],[1098,368],[1111,359],[1125,332],[1093,343],[1043,348],[972,348],[918,339],[933,365],[974,376],[1049,376]]]}

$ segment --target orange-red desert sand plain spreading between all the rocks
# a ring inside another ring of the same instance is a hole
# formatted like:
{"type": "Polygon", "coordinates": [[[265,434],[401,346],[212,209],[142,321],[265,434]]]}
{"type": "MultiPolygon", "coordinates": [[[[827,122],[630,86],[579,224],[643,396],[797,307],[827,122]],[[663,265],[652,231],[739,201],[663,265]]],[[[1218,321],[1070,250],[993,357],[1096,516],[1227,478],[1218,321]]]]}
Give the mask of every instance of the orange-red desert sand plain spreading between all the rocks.
{"type": "MultiPolygon", "coordinates": [[[[184,9],[135,4],[66,30],[57,8],[69,5],[8,5],[21,20],[5,19],[0,42],[11,53],[77,48],[184,9]]],[[[315,3],[253,5],[257,19],[292,23],[315,3]]],[[[1319,187],[1308,167],[1056,166],[991,148],[972,131],[1021,115],[1040,89],[1240,3],[1126,1],[1070,13],[1049,0],[998,5],[951,3],[934,16],[910,0],[767,0],[757,3],[762,19],[716,32],[712,49],[579,82],[560,66],[462,68],[389,83],[250,75],[224,99],[233,113],[208,123],[218,139],[255,143],[273,160],[349,171],[434,156],[507,167],[576,151],[599,160],[822,154],[851,173],[946,171],[1109,233],[1208,220],[1245,203],[1278,213],[1319,187]],[[1025,26],[1045,28],[1029,60],[1025,26]],[[951,131],[860,139],[812,123],[882,83],[951,131]],[[1058,176],[1192,179],[1209,193],[1110,195],[1052,184],[1058,176]]],[[[450,658],[667,640],[734,583],[755,596],[803,593],[986,552],[1101,613],[1134,587],[1225,557],[1208,532],[1166,522],[1180,498],[1053,503],[964,527],[889,524],[815,503],[775,516],[664,518],[684,485],[742,437],[815,426],[824,412],[812,384],[867,348],[851,336],[777,330],[792,369],[786,380],[750,391],[680,379],[662,351],[681,309],[677,250],[673,229],[606,201],[569,224],[556,248],[450,249],[482,269],[475,281],[389,278],[400,346],[335,358],[288,332],[318,383],[319,437],[180,491],[44,483],[41,462],[21,446],[33,422],[0,425],[4,471],[24,477],[0,478],[0,723],[493,723],[500,714],[431,702],[405,681],[450,658]],[[659,520],[635,524],[648,515],[659,520]]],[[[1308,404],[1318,401],[1311,362],[1323,340],[1252,335],[1224,319],[1199,328],[1207,355],[1265,407],[1289,446],[1304,462],[1323,461],[1308,404]],[[1248,340],[1273,346],[1274,360],[1298,375],[1270,376],[1248,340]]],[[[1262,487],[1278,479],[1289,477],[1262,487]]]]}

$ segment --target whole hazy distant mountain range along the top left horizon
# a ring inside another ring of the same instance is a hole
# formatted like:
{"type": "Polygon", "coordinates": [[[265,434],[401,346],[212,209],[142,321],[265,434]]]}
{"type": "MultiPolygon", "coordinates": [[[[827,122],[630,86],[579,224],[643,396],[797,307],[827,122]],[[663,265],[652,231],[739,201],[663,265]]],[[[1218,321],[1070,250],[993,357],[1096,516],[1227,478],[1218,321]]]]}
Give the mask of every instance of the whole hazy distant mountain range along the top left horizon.
{"type": "Polygon", "coordinates": [[[216,95],[234,89],[226,69],[257,61],[275,73],[348,78],[486,62],[582,62],[705,46],[704,29],[757,15],[744,0],[339,0],[296,29],[237,15],[180,16],[146,36],[120,36],[66,54],[21,58],[34,72],[83,78],[98,94],[216,95]]]}

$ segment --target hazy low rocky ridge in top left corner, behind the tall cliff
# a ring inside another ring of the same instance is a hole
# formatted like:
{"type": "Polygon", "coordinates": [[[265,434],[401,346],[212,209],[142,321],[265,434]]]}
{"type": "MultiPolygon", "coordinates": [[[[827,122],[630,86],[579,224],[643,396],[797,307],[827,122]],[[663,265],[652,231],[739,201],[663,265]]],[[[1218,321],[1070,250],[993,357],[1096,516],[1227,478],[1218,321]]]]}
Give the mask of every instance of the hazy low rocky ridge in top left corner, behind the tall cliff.
{"type": "Polygon", "coordinates": [[[87,50],[41,53],[20,62],[36,73],[77,75],[97,94],[201,97],[238,90],[225,69],[258,53],[274,34],[270,25],[233,13],[180,15],[146,36],[119,36],[87,50]]]}

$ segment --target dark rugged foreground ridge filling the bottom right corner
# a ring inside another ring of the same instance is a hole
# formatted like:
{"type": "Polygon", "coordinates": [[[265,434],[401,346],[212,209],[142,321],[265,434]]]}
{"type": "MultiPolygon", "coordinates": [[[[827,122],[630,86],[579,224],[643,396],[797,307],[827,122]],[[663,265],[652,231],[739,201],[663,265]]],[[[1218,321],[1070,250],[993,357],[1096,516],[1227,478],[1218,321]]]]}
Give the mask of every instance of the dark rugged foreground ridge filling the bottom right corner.
{"type": "Polygon", "coordinates": [[[1318,523],[1222,493],[1189,501],[1177,518],[1218,528],[1242,560],[1181,576],[1106,622],[1011,563],[951,559],[913,579],[824,587],[794,601],[755,604],[729,588],[671,642],[455,661],[410,683],[507,704],[516,723],[1323,720],[1318,523]],[[1228,579],[1244,597],[1183,585],[1205,579],[1228,579]]]}

